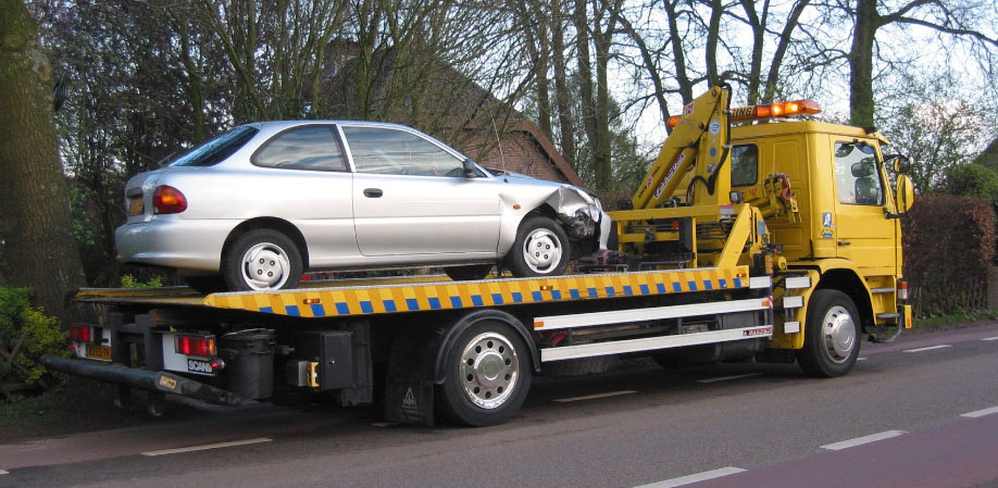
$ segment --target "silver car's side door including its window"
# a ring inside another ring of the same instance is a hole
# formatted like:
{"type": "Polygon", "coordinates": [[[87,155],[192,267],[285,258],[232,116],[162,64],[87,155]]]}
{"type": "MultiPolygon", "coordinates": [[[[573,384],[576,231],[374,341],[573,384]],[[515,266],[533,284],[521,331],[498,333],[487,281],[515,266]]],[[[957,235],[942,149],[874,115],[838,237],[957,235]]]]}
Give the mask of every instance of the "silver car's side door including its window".
{"type": "Polygon", "coordinates": [[[361,253],[495,255],[500,182],[465,177],[462,159],[415,132],[341,128],[357,171],[353,222],[361,253]]]}

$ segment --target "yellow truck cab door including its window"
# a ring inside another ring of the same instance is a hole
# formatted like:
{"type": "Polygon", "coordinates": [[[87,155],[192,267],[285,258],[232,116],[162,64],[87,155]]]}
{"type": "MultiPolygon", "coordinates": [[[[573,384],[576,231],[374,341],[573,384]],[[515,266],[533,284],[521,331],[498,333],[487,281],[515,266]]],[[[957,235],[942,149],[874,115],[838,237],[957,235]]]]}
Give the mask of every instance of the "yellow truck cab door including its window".
{"type": "Polygon", "coordinates": [[[824,213],[823,226],[832,224],[837,255],[851,260],[864,275],[894,274],[897,236],[894,222],[884,213],[885,185],[876,145],[857,138],[833,138],[832,143],[835,215],[824,213]]]}

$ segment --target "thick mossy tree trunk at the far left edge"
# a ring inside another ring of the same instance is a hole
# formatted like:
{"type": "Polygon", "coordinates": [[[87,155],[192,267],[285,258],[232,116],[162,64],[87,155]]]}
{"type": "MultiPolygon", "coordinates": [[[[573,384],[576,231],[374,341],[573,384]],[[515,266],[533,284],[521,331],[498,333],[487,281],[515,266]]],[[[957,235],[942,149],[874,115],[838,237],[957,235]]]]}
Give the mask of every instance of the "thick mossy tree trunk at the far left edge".
{"type": "Polygon", "coordinates": [[[3,275],[35,289],[35,303],[64,324],[66,293],[85,283],[55,147],[52,68],[22,0],[0,0],[0,235],[3,275]]]}

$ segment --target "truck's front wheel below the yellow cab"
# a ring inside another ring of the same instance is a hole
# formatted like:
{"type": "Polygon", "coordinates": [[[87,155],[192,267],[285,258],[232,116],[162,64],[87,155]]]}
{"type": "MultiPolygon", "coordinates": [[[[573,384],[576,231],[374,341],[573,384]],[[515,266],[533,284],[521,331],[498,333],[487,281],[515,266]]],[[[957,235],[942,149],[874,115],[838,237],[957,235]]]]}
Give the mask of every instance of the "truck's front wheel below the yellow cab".
{"type": "Polygon", "coordinates": [[[848,295],[815,290],[808,301],[804,346],[797,364],[808,376],[843,376],[856,364],[860,349],[859,312],[848,295]]]}

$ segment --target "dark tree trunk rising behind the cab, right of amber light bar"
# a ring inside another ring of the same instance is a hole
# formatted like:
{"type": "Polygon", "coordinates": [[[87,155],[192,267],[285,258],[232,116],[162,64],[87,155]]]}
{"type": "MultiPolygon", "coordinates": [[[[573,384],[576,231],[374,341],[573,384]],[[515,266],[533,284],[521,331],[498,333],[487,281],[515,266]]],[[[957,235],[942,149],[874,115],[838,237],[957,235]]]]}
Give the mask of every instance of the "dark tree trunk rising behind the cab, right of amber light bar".
{"type": "Polygon", "coordinates": [[[880,26],[876,0],[859,0],[849,53],[849,123],[858,127],[873,126],[873,40],[880,26]]]}

